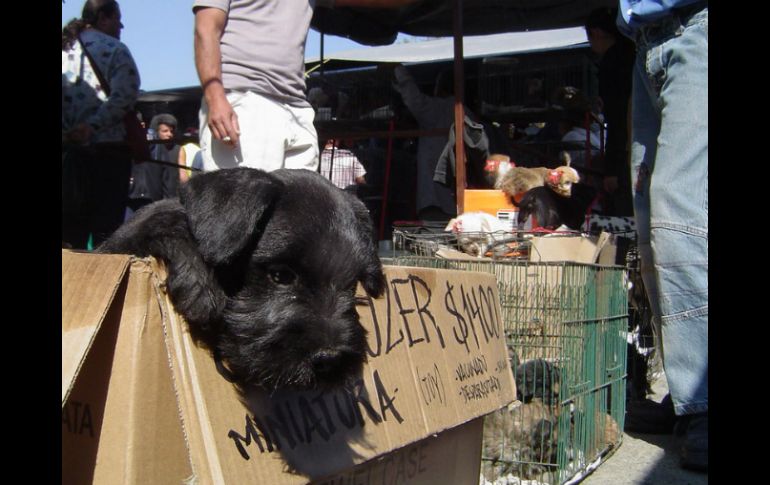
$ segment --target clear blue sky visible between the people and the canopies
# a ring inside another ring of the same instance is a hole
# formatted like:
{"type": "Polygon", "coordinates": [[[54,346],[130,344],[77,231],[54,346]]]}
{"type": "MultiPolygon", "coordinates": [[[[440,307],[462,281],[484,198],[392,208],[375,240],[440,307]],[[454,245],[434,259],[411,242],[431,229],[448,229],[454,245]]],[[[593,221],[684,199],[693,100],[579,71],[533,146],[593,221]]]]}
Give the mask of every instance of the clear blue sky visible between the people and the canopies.
{"type": "MultiPolygon", "coordinates": [[[[80,17],[84,0],[65,0],[62,26],[80,17]]],[[[139,68],[141,89],[178,88],[198,84],[193,59],[192,0],[122,0],[123,31],[120,40],[128,46],[139,68]]],[[[305,56],[320,55],[320,34],[310,30],[305,56]]],[[[327,54],[362,48],[351,40],[327,35],[327,54]]]]}

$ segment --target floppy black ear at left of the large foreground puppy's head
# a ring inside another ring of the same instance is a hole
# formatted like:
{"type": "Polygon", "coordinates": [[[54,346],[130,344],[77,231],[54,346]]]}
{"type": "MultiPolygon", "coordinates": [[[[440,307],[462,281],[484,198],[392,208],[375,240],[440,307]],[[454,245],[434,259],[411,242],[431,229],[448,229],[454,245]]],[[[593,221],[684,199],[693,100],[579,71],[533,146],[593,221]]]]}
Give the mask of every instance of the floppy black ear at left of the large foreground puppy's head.
{"type": "Polygon", "coordinates": [[[183,185],[179,199],[203,259],[212,265],[235,259],[259,233],[282,188],[275,177],[253,168],[217,170],[183,185]]]}

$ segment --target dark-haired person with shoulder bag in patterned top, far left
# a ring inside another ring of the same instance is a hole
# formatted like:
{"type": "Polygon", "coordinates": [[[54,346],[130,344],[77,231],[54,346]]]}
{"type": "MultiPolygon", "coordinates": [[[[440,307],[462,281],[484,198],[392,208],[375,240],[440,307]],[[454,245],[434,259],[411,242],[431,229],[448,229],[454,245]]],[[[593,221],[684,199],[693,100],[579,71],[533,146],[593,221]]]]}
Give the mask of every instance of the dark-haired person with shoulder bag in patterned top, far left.
{"type": "Polygon", "coordinates": [[[140,79],[128,47],[119,41],[122,28],[116,1],[87,0],[81,18],[62,29],[62,245],[66,247],[86,249],[89,236],[96,246],[120,226],[132,159],[150,158],[146,136],[146,153],[128,145],[131,131],[125,120],[133,118],[138,125],[134,105],[140,79]]]}

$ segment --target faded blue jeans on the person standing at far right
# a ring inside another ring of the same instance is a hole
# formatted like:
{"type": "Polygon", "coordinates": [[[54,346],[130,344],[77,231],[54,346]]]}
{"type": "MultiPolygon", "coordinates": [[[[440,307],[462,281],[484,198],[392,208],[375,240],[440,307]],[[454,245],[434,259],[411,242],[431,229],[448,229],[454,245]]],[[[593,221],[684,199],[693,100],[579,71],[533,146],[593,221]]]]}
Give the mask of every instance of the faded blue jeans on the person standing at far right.
{"type": "Polygon", "coordinates": [[[708,8],[637,35],[631,182],[677,415],[708,411],[708,8]]]}

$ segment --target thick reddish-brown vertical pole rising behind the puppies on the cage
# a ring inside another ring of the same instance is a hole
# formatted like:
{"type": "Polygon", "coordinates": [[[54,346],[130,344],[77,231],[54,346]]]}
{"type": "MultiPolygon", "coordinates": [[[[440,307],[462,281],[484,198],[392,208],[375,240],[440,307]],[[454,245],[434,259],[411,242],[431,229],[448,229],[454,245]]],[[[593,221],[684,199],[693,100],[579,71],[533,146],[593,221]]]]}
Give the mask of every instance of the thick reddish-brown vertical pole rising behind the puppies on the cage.
{"type": "Polygon", "coordinates": [[[454,73],[455,73],[455,181],[457,194],[457,215],[465,210],[465,145],[463,133],[465,127],[465,79],[463,73],[463,2],[454,0],[454,73]]]}

